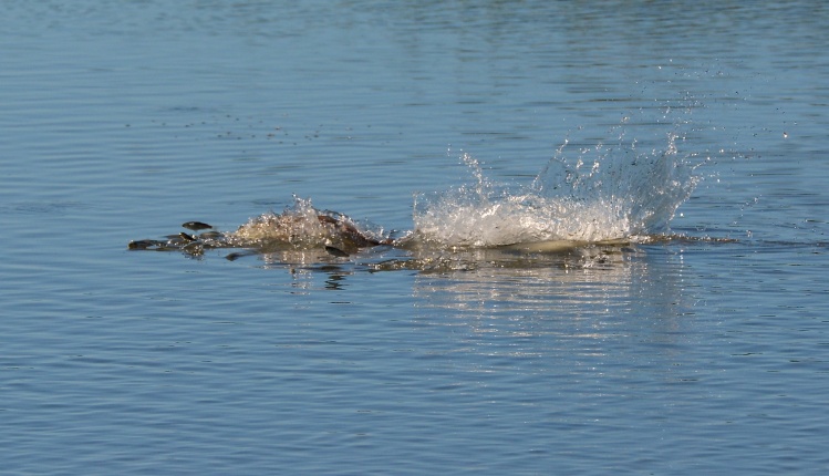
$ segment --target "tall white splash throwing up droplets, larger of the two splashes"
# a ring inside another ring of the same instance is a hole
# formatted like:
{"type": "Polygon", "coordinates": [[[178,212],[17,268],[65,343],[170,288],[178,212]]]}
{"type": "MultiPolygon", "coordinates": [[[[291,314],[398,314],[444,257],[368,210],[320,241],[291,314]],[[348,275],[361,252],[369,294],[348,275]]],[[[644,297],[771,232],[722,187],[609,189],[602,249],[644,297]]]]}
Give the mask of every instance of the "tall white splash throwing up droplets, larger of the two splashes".
{"type": "Polygon", "coordinates": [[[539,241],[603,241],[663,232],[700,177],[680,155],[675,132],[663,147],[599,144],[568,157],[562,145],[530,186],[493,184],[468,154],[476,184],[415,196],[414,235],[449,247],[539,241]]]}

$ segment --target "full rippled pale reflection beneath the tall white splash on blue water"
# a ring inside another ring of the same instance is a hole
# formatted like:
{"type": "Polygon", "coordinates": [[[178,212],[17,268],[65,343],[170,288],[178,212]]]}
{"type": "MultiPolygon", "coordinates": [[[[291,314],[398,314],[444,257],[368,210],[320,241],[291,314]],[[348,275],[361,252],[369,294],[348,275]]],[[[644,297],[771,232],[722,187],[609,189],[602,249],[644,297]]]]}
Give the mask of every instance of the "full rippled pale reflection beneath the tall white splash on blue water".
{"type": "Polygon", "coordinates": [[[418,273],[415,321],[445,329],[446,359],[465,372],[545,380],[574,372],[581,384],[570,391],[586,397],[620,395],[642,379],[673,393],[695,377],[685,365],[700,333],[681,255],[643,247],[612,257],[418,273]]]}

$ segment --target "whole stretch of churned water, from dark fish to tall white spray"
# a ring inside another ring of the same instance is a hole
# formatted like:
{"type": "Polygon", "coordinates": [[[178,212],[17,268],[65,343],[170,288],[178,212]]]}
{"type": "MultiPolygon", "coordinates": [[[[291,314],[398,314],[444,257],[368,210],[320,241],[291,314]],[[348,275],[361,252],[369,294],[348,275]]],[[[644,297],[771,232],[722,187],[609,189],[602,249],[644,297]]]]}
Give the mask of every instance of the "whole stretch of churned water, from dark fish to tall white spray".
{"type": "MultiPolygon", "coordinates": [[[[641,151],[620,134],[613,146],[574,145],[557,151],[545,169],[526,186],[490,182],[468,154],[462,159],[475,182],[449,190],[417,194],[414,229],[394,234],[346,215],[320,210],[310,199],[294,197],[281,214],[267,213],[235,231],[217,231],[201,223],[165,240],[129,242],[135,250],[182,250],[199,256],[205,249],[242,248],[243,253],[318,250],[322,257],[348,257],[385,246],[404,250],[509,249],[559,251],[589,245],[625,245],[654,239],[667,231],[677,207],[700,182],[701,162],[682,155],[672,132],[641,151]]],[[[304,255],[303,255],[304,256],[304,255]]],[[[319,256],[315,256],[319,258],[319,256]]]]}

